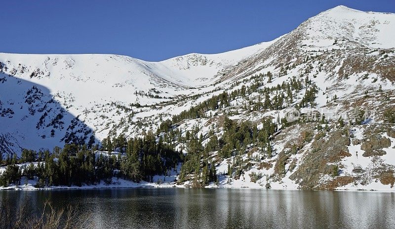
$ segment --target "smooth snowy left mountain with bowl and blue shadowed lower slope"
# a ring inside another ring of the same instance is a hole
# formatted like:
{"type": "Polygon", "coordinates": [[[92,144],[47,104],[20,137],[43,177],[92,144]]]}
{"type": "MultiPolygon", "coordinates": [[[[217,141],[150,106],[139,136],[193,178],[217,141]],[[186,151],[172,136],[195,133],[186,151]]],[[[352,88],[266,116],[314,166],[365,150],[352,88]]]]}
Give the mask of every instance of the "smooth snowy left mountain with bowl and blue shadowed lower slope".
{"type": "MultiPolygon", "coordinates": [[[[4,142],[1,147],[6,152],[11,152],[11,149],[18,152],[19,147],[39,149],[62,145],[68,134],[63,130],[74,126],[71,120],[77,117],[83,121],[80,122],[81,126],[85,123],[101,139],[108,135],[112,124],[119,123],[128,115],[128,112],[119,110],[117,113],[113,109],[116,105],[134,109],[134,112],[150,110],[137,109],[130,104],[151,106],[197,93],[202,87],[213,89],[225,69],[272,43],[219,54],[192,53],[160,62],[120,55],[0,53],[3,79],[0,110],[3,111],[1,117],[4,120],[1,124],[4,142]],[[29,113],[25,100],[33,87],[43,95],[35,97],[34,102],[40,104],[29,108],[35,109],[29,113]],[[48,101],[62,108],[61,111],[53,109],[47,104],[48,101]],[[54,134],[51,134],[52,129],[48,124],[38,124],[41,120],[52,122],[54,117],[64,113],[70,114],[70,117],[62,119],[65,122],[63,129],[59,127],[58,131],[54,130],[54,134]],[[33,128],[35,126],[37,128],[33,128]]],[[[84,133],[79,133],[80,137],[84,133]]]]}

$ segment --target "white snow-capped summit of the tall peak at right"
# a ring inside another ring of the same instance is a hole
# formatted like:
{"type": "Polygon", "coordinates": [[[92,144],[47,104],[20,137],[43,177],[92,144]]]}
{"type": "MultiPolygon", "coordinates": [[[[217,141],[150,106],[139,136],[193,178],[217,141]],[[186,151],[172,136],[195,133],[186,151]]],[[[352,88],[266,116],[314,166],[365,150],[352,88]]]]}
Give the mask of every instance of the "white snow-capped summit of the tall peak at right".
{"type": "Polygon", "coordinates": [[[307,21],[306,45],[331,46],[335,39],[349,39],[373,48],[395,47],[395,14],[363,12],[340,5],[307,21]]]}

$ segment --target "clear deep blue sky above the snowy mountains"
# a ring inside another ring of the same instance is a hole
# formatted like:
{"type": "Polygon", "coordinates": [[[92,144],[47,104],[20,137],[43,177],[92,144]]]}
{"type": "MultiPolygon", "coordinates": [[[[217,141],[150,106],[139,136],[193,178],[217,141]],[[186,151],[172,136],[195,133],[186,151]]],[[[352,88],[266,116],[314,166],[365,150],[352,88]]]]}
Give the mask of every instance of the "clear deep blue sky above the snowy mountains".
{"type": "Polygon", "coordinates": [[[271,41],[343,4],[395,12],[395,0],[7,0],[0,52],[113,53],[158,61],[271,41]]]}

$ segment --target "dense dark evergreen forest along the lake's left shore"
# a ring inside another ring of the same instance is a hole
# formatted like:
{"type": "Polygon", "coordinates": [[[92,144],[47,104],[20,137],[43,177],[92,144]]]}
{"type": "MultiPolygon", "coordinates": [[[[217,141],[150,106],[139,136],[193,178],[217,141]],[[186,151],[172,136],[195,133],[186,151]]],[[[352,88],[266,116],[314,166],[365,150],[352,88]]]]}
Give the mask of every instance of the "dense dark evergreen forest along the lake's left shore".
{"type": "Polygon", "coordinates": [[[161,137],[157,141],[152,132],[144,137],[130,138],[122,144],[125,153],[118,156],[112,155],[111,150],[107,156],[95,153],[95,148],[77,144],[55,147],[52,152],[24,149],[19,159],[16,154],[12,158],[7,156],[5,160],[1,156],[0,162],[6,168],[0,174],[0,185],[20,184],[23,176],[28,179],[37,177],[37,187],[110,183],[113,177],[152,182],[154,175],[166,175],[181,162],[180,152],[164,143],[161,137]],[[18,166],[18,163],[26,164],[18,166]]]}

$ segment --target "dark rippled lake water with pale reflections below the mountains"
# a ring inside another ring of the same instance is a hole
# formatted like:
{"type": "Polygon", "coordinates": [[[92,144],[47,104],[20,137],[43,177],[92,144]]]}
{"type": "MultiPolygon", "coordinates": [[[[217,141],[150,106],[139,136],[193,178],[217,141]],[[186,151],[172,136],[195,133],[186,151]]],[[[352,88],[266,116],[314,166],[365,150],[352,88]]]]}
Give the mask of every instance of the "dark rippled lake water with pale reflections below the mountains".
{"type": "Polygon", "coordinates": [[[16,204],[79,205],[87,228],[395,228],[395,193],[133,188],[0,191],[16,204]]]}

